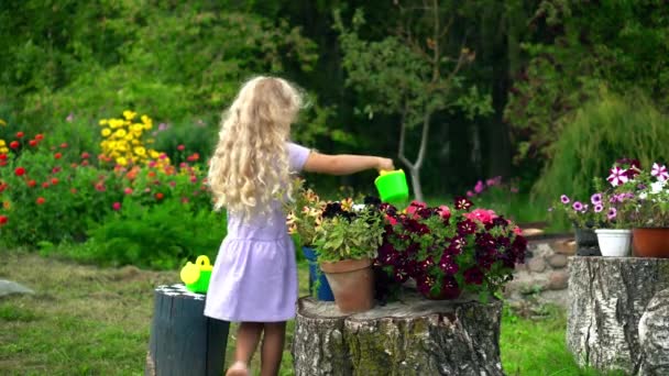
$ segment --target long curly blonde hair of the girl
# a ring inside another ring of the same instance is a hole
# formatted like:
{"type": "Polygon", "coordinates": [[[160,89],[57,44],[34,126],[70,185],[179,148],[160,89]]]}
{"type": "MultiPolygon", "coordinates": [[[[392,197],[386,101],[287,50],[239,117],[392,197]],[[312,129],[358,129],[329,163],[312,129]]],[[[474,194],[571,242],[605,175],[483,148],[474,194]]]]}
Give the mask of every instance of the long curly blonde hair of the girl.
{"type": "Polygon", "coordinates": [[[267,213],[279,195],[290,197],[286,142],[301,107],[300,90],[282,78],[260,76],[242,86],[222,115],[207,176],[215,210],[248,219],[267,213]]]}

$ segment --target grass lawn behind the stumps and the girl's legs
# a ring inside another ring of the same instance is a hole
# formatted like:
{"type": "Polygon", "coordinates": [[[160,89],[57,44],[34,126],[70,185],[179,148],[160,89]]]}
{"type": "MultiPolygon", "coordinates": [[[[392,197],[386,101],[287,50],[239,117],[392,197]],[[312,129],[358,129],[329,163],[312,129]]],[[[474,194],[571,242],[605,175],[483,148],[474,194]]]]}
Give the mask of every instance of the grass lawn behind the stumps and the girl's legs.
{"type": "MultiPolygon", "coordinates": [[[[153,287],[177,281],[176,272],[98,268],[34,253],[0,254],[0,279],[20,281],[36,291],[0,298],[1,375],[143,374],[153,287]]],[[[305,264],[299,272],[304,294],[305,264]]],[[[597,375],[579,371],[567,352],[564,313],[557,308],[547,312],[536,321],[505,311],[501,349],[506,373],[597,375]]],[[[289,331],[288,340],[292,325],[289,331]]],[[[230,357],[234,331],[228,344],[230,357]]],[[[282,375],[292,375],[288,345],[282,375]]]]}

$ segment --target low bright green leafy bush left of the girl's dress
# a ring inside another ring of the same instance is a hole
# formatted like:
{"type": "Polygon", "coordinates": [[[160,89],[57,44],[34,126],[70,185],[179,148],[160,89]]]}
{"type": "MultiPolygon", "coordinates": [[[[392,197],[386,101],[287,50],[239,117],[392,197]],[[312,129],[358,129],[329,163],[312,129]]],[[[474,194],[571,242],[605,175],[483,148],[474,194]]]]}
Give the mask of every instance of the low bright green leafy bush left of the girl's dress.
{"type": "Polygon", "coordinates": [[[98,262],[156,269],[176,269],[201,254],[213,259],[224,236],[221,214],[176,200],[146,208],[125,199],[122,212],[91,231],[98,262]]]}

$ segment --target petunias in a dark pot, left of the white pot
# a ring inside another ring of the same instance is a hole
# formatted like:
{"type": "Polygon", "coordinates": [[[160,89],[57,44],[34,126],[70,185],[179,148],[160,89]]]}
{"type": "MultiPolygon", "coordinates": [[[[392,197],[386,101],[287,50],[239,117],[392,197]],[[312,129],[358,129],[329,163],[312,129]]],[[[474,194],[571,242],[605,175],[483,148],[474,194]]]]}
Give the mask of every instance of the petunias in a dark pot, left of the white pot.
{"type": "Polygon", "coordinates": [[[600,212],[603,210],[602,195],[595,193],[590,198],[590,202],[572,200],[567,195],[561,195],[558,202],[550,209],[552,213],[559,213],[569,219],[574,228],[580,256],[601,256],[600,244],[595,234],[595,226],[600,212]]]}

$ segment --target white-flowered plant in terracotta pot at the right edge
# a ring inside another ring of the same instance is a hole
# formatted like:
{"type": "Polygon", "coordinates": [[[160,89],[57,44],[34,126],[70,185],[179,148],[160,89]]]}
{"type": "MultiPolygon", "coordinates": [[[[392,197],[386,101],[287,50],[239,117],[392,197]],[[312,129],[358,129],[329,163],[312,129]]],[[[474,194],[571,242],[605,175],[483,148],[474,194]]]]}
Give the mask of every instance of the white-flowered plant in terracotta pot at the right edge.
{"type": "Polygon", "coordinates": [[[636,195],[626,207],[632,219],[632,243],[638,257],[669,257],[669,172],[655,163],[635,178],[636,195]]]}

